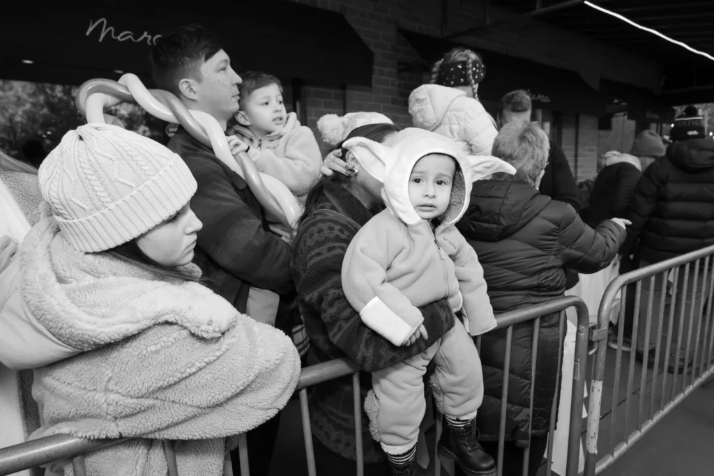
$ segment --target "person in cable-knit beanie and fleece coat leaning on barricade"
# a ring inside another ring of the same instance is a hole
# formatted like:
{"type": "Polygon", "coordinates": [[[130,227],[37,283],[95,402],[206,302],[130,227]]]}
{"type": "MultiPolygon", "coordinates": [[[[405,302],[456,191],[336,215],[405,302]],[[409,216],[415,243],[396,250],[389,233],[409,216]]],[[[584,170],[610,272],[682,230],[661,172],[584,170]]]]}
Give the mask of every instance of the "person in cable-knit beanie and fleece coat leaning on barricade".
{"type": "Polygon", "coordinates": [[[31,437],[133,438],[87,455],[89,475],[165,475],[163,439],[179,440],[179,472],[223,475],[234,436],[291,397],[300,360],[199,283],[191,171],[150,138],[92,123],[65,134],[39,184],[52,216],[24,239],[20,290],[0,314],[0,361],[43,364],[31,437]]]}

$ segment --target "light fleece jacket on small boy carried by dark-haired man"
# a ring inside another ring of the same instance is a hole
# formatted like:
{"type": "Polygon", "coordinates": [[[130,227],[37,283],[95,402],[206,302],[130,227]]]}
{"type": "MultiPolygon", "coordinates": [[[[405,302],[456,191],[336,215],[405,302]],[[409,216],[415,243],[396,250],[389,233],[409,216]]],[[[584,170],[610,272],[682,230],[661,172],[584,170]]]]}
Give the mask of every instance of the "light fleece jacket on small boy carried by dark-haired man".
{"type": "Polygon", "coordinates": [[[305,201],[305,196],[320,178],[322,153],[315,134],[300,125],[296,113],[288,113],[285,126],[262,139],[245,126],[235,126],[228,131],[229,136],[232,134],[251,146],[248,156],[256,163],[258,171],[277,178],[298,201],[305,201]]]}

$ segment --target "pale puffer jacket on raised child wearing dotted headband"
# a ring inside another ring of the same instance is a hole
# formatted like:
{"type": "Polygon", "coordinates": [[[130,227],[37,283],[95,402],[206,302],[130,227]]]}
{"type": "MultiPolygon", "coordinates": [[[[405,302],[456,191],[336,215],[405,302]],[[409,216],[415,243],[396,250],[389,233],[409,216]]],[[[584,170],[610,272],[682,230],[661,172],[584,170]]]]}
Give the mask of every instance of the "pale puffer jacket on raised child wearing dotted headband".
{"type": "Polygon", "coordinates": [[[409,95],[414,127],[452,138],[466,155],[490,156],[496,121],[464,91],[438,84],[419,86],[409,95]]]}

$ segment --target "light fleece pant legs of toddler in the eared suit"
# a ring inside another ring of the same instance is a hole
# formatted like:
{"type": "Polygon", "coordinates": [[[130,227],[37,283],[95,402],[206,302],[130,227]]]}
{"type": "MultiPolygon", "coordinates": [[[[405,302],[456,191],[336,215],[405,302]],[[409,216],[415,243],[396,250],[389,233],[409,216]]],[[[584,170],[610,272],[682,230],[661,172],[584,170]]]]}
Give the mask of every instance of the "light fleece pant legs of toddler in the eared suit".
{"type": "Polygon", "coordinates": [[[376,425],[382,448],[390,455],[401,455],[416,445],[426,411],[423,377],[431,360],[439,387],[435,393],[443,393],[444,415],[471,420],[481,406],[481,359],[457,318],[453,328],[423,353],[372,374],[379,407],[376,425]]]}

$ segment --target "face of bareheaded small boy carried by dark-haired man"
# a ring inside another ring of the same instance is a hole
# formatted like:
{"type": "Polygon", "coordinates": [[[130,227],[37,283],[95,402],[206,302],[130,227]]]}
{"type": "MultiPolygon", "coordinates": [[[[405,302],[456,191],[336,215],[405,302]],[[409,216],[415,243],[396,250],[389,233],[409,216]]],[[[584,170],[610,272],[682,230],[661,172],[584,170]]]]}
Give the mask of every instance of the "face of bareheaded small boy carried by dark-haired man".
{"type": "Polygon", "coordinates": [[[241,102],[238,123],[248,127],[258,138],[279,131],[285,126],[287,113],[283,94],[276,83],[256,89],[241,102]]]}

